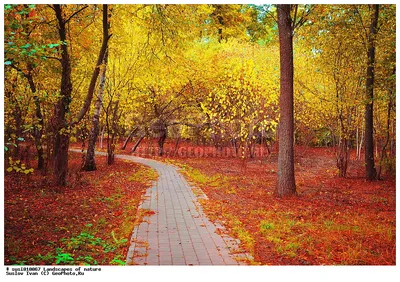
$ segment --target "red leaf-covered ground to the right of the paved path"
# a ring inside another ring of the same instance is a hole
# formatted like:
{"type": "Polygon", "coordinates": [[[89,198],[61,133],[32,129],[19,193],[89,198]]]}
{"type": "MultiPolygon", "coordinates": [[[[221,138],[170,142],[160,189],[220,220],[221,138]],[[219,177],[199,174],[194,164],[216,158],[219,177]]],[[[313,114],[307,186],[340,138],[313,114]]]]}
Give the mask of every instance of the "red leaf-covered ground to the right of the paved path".
{"type": "Polygon", "coordinates": [[[348,178],[336,176],[334,155],[325,148],[297,148],[298,196],[274,193],[276,156],[175,158],[187,177],[207,194],[211,219],[223,221],[256,262],[262,264],[396,263],[395,180],[364,180],[361,161],[348,178]]]}

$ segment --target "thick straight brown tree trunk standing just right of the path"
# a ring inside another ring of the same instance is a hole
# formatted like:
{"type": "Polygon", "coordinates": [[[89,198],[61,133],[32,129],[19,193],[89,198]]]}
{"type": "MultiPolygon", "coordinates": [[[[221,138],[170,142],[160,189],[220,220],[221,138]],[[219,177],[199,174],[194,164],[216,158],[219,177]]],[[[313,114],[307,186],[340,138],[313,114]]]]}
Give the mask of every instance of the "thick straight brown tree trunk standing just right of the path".
{"type": "Polygon", "coordinates": [[[280,44],[280,121],[278,183],[276,194],[285,197],[296,194],[294,178],[294,115],[293,115],[293,30],[290,5],[278,7],[278,28],[280,44]]]}

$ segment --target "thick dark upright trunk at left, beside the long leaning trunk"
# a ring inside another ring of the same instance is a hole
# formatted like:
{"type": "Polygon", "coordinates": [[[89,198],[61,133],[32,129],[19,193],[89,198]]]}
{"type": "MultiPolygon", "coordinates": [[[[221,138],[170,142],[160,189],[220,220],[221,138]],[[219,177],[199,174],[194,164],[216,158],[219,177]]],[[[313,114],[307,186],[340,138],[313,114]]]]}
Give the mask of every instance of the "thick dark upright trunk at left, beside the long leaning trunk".
{"type": "Polygon", "coordinates": [[[53,165],[56,177],[56,185],[65,186],[68,171],[68,147],[69,133],[65,114],[69,112],[71,101],[72,82],[71,82],[71,61],[68,53],[66,22],[63,18],[61,5],[54,5],[58,21],[58,32],[61,44],[61,98],[58,100],[54,109],[54,148],[53,165]]]}

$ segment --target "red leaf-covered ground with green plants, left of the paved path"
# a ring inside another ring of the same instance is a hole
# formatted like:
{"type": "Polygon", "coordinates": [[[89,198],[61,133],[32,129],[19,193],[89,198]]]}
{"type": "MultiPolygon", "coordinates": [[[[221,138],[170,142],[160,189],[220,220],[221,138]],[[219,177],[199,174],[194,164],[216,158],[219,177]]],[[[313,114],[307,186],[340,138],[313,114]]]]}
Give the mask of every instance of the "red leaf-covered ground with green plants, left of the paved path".
{"type": "Polygon", "coordinates": [[[98,170],[79,172],[71,154],[68,187],[46,186],[35,172],[5,176],[5,264],[122,264],[149,168],[97,157],[98,170]],[[73,260],[71,260],[71,257],[73,260]]]}

